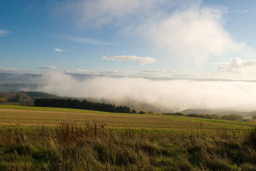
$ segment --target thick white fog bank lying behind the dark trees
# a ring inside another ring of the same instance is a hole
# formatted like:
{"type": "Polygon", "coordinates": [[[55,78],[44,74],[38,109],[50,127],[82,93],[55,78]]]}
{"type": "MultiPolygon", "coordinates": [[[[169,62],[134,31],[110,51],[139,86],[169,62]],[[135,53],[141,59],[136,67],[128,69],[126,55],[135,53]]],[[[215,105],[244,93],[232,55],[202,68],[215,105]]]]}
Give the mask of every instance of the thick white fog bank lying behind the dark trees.
{"type": "Polygon", "coordinates": [[[67,97],[127,99],[157,105],[168,112],[189,108],[256,110],[256,83],[243,81],[157,81],[131,77],[76,79],[64,73],[49,73],[38,81],[37,91],[67,97]]]}

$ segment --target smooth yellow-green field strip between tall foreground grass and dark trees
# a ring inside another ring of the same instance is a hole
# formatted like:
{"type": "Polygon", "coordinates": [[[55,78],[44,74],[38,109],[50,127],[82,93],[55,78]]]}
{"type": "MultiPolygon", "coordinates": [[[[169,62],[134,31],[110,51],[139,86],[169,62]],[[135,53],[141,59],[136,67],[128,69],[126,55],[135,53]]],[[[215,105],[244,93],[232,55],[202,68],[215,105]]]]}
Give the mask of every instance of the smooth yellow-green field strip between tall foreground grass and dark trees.
{"type": "Polygon", "coordinates": [[[232,122],[225,120],[176,117],[166,115],[144,115],[107,113],[94,110],[29,107],[19,105],[0,105],[1,125],[17,125],[27,127],[31,125],[55,125],[56,120],[67,119],[82,123],[84,119],[102,119],[109,128],[133,129],[161,129],[183,130],[195,132],[201,125],[205,133],[219,132],[222,129],[228,132],[243,133],[252,127],[253,123],[232,122]]]}

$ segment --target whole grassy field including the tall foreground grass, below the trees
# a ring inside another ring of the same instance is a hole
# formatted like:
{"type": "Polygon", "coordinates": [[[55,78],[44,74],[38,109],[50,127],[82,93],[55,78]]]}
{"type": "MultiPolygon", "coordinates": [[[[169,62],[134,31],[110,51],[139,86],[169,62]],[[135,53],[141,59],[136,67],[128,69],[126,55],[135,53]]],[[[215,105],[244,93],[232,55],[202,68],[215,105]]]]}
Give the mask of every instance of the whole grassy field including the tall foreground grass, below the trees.
{"type": "Polygon", "coordinates": [[[254,170],[254,123],[0,104],[0,170],[254,170]]]}

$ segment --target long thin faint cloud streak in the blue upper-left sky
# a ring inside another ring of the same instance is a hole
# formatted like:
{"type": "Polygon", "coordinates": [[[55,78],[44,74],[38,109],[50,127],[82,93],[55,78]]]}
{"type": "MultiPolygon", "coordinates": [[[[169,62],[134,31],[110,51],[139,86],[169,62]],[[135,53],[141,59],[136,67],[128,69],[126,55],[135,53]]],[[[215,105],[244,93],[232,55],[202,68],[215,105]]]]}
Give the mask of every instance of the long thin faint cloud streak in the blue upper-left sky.
{"type": "Polygon", "coordinates": [[[60,37],[67,39],[68,41],[78,42],[78,43],[86,43],[86,44],[114,44],[114,43],[106,43],[102,42],[99,39],[92,38],[82,38],[82,37],[73,37],[67,35],[60,35],[60,37]]]}

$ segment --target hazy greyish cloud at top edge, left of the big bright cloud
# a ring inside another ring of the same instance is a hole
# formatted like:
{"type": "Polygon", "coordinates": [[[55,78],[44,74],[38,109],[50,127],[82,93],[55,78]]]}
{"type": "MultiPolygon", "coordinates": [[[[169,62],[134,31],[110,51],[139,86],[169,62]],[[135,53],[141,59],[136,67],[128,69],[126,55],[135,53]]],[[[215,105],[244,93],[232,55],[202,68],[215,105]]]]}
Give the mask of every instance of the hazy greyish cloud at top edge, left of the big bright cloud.
{"type": "MultiPolygon", "coordinates": [[[[93,0],[67,1],[62,9],[73,16],[79,27],[102,27],[131,22],[131,16],[143,18],[163,0],[93,0]]],[[[60,9],[60,7],[58,7],[60,9]]],[[[54,13],[54,12],[53,12],[54,13]]]]}

